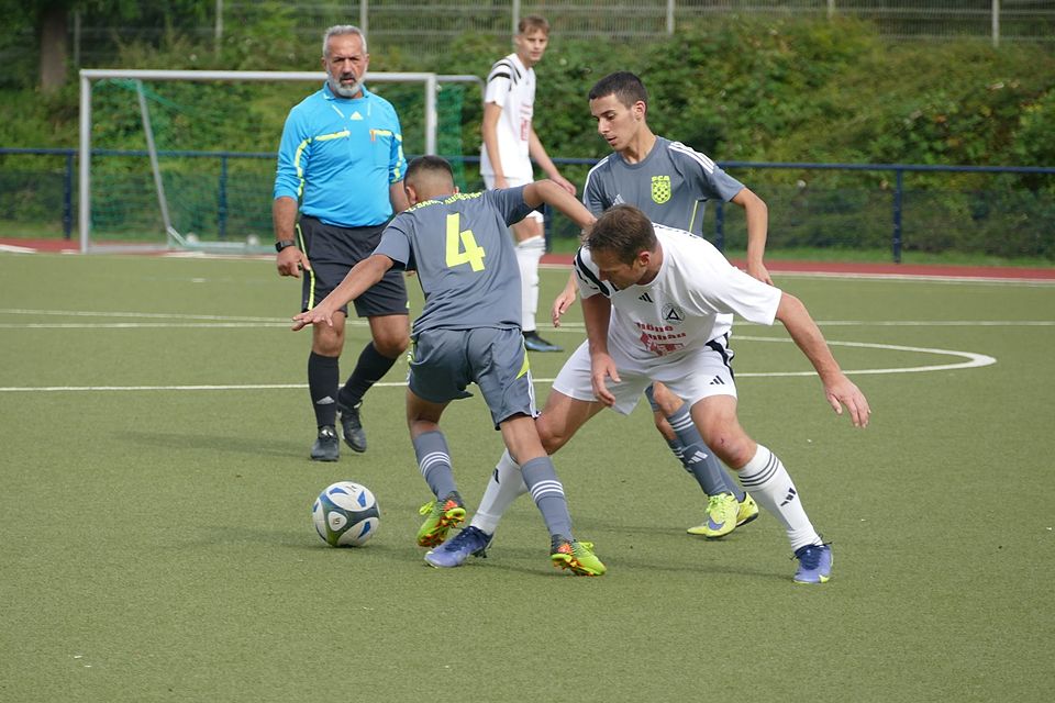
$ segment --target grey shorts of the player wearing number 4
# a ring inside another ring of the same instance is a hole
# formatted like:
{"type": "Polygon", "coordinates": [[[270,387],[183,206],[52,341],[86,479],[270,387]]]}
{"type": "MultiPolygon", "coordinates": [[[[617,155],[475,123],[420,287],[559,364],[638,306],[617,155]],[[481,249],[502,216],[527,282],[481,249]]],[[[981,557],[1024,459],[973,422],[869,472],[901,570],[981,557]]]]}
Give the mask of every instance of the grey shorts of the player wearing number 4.
{"type": "Polygon", "coordinates": [[[495,427],[514,415],[535,417],[535,388],[520,330],[432,330],[414,339],[410,390],[431,403],[471,398],[476,383],[495,427]]]}

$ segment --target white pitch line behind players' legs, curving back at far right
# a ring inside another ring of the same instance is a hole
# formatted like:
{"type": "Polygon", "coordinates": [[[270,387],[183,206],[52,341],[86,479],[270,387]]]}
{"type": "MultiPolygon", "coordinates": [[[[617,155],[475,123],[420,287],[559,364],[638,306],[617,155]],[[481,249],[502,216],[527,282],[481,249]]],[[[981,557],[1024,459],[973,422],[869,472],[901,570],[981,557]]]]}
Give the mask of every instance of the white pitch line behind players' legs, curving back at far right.
{"type": "MultiPolygon", "coordinates": [[[[754,337],[737,335],[736,339],[747,342],[781,342],[788,343],[790,339],[778,337],[754,337]]],[[[955,356],[965,359],[957,364],[937,364],[930,366],[914,367],[891,367],[885,369],[853,369],[844,371],[847,376],[863,376],[870,373],[920,373],[923,371],[949,371],[954,369],[970,369],[991,366],[997,362],[995,357],[986,354],[976,354],[974,352],[956,352],[953,349],[936,349],[930,347],[909,347],[895,344],[874,344],[868,342],[829,342],[831,346],[859,347],[868,349],[886,349],[891,352],[913,352],[918,354],[937,354],[945,356],[955,356]]],[[[779,377],[802,377],[817,376],[815,371],[755,371],[736,373],[736,378],[779,378],[779,377]]],[[[536,378],[535,383],[552,383],[552,378],[536,378]]],[[[403,388],[407,383],[395,381],[382,381],[375,383],[381,388],[403,388]]],[[[257,390],[287,390],[304,389],[307,383],[223,383],[223,384],[197,384],[197,386],[8,386],[0,387],[0,393],[59,393],[59,392],[81,392],[81,391],[257,391],[257,390]]]]}

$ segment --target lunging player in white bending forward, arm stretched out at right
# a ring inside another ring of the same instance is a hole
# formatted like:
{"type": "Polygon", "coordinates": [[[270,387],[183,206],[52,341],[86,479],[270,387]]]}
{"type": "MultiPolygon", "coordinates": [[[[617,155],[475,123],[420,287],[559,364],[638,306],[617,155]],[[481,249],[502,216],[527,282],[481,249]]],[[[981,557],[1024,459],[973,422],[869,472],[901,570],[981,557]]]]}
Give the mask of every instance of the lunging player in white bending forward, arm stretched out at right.
{"type": "MultiPolygon", "coordinates": [[[[728,346],[732,314],[758,324],[779,320],[820,376],[832,409],[842,414],[845,406],[854,426],[866,426],[868,401],[801,301],[736,269],[704,239],[656,227],[632,205],[598,219],[575,272],[587,342],[560,369],[536,422],[546,451],[564,446],[606,406],[630,413],[649,383],[663,382],[686,399],[703,440],[784,526],[799,561],[793,580],[826,582],[831,546],[813,528],[780,459],[740,425],[728,346]]],[[[502,464],[515,467],[508,455],[502,464]]]]}

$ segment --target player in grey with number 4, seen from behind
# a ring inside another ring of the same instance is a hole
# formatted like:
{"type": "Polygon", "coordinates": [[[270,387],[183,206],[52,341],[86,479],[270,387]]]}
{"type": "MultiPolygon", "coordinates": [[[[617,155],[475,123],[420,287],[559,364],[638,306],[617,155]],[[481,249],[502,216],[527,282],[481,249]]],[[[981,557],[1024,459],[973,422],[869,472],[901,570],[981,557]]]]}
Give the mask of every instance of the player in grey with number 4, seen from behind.
{"type": "MultiPolygon", "coordinates": [[[[418,531],[418,544],[440,545],[451,527],[465,520],[440,417],[451,401],[468,398],[465,389],[475,382],[509,454],[518,457],[523,482],[549,529],[553,563],[580,576],[604,573],[592,545],[571,535],[564,486],[535,429],[538,413],[520,327],[520,276],[506,234],[509,225],[544,202],[580,226],[589,225],[593,216],[549,180],[459,193],[451,165],[435,156],[410,164],[404,189],[410,209],[392,219],[374,254],[332,293],[293,317],[293,330],[332,324],[342,305],[393,267],[417,270],[425,305],[411,330],[407,422],[419,469],[435,496],[422,507],[427,517],[418,531]]],[[[476,536],[471,527],[463,535],[476,536]]],[[[485,540],[480,548],[486,545],[485,540]]],[[[430,551],[425,560],[436,567],[455,566],[445,562],[442,549],[430,551]]]]}

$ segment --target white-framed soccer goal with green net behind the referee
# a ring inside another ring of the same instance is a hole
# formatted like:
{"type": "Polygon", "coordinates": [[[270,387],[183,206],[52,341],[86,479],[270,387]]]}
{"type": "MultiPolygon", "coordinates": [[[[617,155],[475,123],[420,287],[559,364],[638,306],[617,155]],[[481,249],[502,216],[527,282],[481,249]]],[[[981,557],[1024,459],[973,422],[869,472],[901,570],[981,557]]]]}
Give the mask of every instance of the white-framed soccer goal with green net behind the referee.
{"type": "MultiPolygon", "coordinates": [[[[282,124],[324,81],[322,71],[81,70],[81,252],[274,252],[282,124]]],[[[479,102],[479,78],[366,81],[395,105],[408,159],[447,157],[464,188],[463,109],[479,102]]]]}

